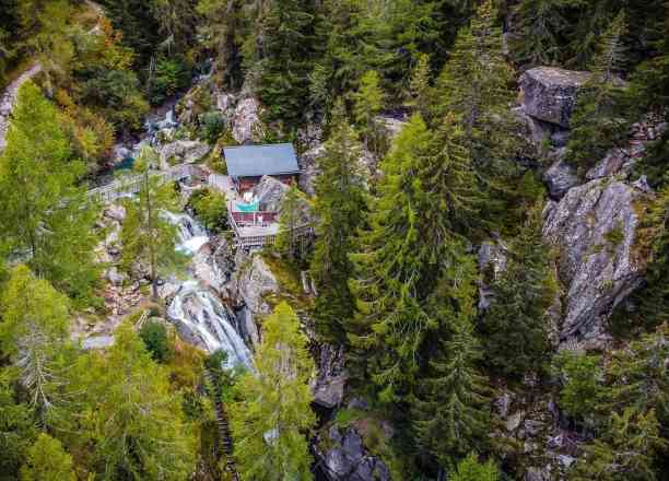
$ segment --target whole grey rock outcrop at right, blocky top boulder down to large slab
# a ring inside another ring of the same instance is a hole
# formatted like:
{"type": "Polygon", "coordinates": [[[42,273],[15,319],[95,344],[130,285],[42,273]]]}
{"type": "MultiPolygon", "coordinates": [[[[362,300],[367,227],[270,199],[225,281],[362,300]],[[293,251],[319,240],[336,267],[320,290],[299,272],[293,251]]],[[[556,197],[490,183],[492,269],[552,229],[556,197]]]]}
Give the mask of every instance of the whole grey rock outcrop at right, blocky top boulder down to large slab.
{"type": "Polygon", "coordinates": [[[570,119],[587,72],[540,67],[520,78],[519,115],[552,164],[543,235],[558,254],[562,284],[559,342],[601,347],[614,307],[641,282],[645,261],[635,255],[639,212],[650,200],[643,180],[633,183],[634,162],[657,133],[637,125],[626,149],[615,149],[583,177],[564,146],[570,119]]]}

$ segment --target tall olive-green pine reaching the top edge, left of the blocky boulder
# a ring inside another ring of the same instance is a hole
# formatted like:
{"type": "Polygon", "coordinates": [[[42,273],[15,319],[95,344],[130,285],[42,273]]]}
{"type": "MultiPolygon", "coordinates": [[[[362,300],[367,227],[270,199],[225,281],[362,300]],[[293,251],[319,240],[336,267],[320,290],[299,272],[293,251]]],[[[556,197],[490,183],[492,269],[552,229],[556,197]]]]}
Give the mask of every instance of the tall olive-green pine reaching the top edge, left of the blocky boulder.
{"type": "Polygon", "coordinates": [[[518,191],[523,172],[517,157],[529,149],[518,134],[521,129],[509,108],[516,95],[510,87],[514,78],[502,51],[496,10],[491,0],[485,0],[470,25],[458,33],[437,79],[441,96],[434,116],[443,119],[450,114],[461,126],[478,188],[485,197],[485,209],[479,216],[497,230],[523,200],[524,192],[518,191]]]}

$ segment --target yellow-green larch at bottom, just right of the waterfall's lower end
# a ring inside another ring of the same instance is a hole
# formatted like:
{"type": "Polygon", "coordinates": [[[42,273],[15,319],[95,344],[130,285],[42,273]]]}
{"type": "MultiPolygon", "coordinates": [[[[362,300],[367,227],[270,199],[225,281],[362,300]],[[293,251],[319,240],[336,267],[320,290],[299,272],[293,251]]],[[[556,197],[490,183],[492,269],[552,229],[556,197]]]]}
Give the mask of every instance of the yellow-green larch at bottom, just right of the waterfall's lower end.
{"type": "Polygon", "coordinates": [[[235,458],[242,479],[313,479],[307,435],[316,418],[308,382],[315,365],[293,309],[281,303],[262,325],[256,371],[237,385],[231,407],[235,458]]]}

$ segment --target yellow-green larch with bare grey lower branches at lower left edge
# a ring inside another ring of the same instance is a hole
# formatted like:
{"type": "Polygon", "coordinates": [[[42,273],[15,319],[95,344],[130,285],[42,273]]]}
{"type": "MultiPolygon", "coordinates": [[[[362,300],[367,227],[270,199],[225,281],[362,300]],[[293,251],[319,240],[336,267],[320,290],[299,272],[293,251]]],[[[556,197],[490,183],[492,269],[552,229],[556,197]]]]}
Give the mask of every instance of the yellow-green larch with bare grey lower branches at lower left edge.
{"type": "Polygon", "coordinates": [[[62,401],[59,357],[69,339],[69,303],[46,280],[36,279],[25,266],[12,271],[2,297],[2,349],[19,369],[39,423],[52,422],[62,401]]]}

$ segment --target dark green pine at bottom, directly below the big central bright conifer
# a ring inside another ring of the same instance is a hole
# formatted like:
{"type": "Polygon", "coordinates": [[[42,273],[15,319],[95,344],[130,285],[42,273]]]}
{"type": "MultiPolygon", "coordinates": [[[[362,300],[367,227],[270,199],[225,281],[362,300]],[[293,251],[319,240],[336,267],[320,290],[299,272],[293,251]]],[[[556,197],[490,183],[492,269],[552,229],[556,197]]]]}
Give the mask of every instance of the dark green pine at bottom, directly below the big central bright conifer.
{"type": "Polygon", "coordinates": [[[412,409],[419,446],[447,469],[484,445],[490,417],[488,379],[477,367],[483,354],[472,325],[474,267],[470,258],[459,260],[468,267],[444,279],[451,302],[439,303],[435,315],[450,335],[431,359],[412,409]]]}

